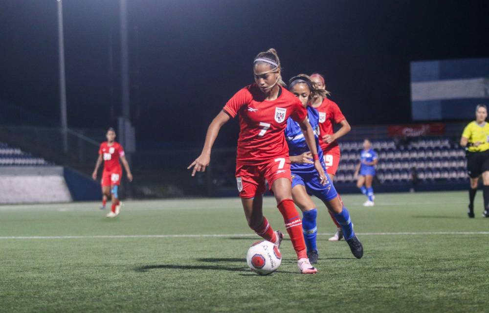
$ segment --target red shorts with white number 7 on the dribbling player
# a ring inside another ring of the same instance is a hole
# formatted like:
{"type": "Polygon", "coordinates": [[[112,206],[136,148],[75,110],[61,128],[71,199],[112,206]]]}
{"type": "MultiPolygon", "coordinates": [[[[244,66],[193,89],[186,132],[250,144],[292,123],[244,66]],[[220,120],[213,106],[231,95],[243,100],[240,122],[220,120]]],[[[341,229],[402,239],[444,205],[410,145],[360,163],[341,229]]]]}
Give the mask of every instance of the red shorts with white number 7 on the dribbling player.
{"type": "Polygon", "coordinates": [[[270,190],[279,178],[292,181],[289,156],[276,157],[260,165],[236,165],[235,176],[240,198],[254,198],[265,193],[265,180],[270,190]]]}

